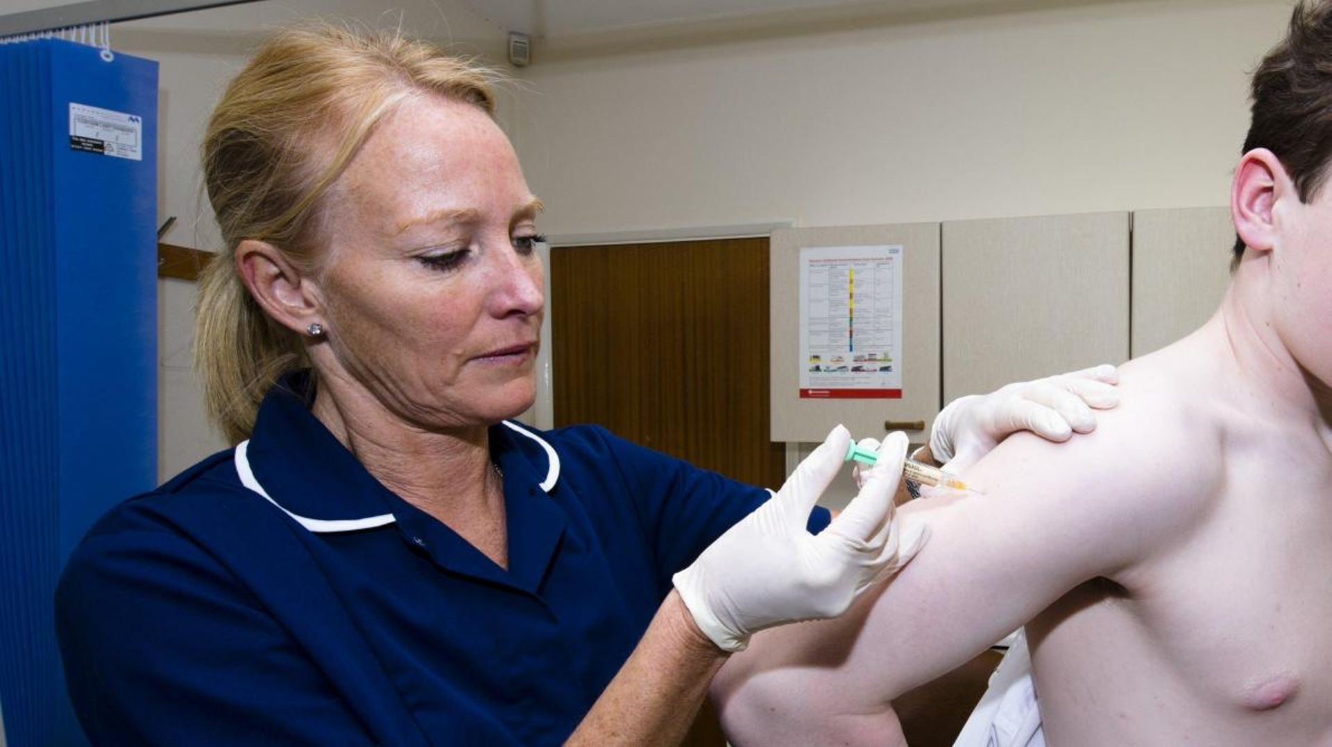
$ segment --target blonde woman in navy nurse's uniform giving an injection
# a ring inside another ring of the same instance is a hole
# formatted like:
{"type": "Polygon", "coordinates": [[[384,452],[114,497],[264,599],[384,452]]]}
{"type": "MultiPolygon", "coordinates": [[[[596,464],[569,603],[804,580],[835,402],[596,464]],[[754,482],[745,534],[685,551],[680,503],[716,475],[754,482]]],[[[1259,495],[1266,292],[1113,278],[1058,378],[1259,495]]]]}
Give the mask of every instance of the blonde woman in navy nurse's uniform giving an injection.
{"type": "MultiPolygon", "coordinates": [[[[492,112],[484,69],[328,27],[225,92],[196,342],[236,446],[69,561],[56,624],[95,743],[673,743],[751,634],[840,614],[919,547],[892,523],[900,434],[830,523],[842,427],[770,499],[509,419],[534,397],[541,202],[492,112]]],[[[1092,385],[955,409],[944,441],[1087,430],[1068,390],[1092,385]]]]}

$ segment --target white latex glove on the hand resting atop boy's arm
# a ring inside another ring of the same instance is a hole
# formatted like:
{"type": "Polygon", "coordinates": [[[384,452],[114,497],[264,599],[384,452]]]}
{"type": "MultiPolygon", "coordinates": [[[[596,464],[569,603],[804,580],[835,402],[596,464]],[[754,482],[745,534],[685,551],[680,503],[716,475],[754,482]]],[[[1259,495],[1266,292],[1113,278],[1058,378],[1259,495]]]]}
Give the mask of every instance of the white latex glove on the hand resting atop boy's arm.
{"type": "Polygon", "coordinates": [[[934,419],[930,453],[948,471],[962,471],[1008,434],[1030,430],[1050,441],[1096,429],[1092,407],[1119,405],[1119,372],[1108,364],[1036,381],[1010,383],[990,394],[959,397],[934,419]]]}

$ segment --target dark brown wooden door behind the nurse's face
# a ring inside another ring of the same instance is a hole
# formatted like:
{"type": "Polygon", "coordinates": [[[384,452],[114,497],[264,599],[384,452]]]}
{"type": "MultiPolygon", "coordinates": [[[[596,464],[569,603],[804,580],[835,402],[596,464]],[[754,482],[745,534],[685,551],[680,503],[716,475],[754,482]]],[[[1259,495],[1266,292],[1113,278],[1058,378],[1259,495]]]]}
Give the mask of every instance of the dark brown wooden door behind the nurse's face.
{"type": "Polygon", "coordinates": [[[777,487],[769,441],[769,240],[550,252],[557,426],[614,433],[777,487]]]}

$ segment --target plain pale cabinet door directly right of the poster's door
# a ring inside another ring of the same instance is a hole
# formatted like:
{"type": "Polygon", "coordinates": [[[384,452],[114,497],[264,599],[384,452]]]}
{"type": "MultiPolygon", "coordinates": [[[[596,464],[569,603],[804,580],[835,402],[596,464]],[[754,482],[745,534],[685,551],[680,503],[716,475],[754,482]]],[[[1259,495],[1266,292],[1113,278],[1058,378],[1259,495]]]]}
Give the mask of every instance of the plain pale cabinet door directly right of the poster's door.
{"type": "Polygon", "coordinates": [[[943,397],[1128,358],[1128,213],[943,224],[943,397]]]}

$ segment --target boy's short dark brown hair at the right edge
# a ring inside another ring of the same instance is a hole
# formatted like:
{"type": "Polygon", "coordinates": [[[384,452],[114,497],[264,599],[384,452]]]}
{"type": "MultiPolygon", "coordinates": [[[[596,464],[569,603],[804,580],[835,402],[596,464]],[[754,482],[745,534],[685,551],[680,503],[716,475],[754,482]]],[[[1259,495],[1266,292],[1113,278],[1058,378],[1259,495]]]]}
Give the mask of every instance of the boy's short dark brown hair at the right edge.
{"type": "MultiPolygon", "coordinates": [[[[1285,39],[1253,71],[1252,99],[1243,152],[1271,150],[1300,201],[1313,200],[1332,160],[1332,0],[1295,5],[1285,39]]],[[[1236,236],[1232,272],[1243,254],[1244,241],[1236,236]]]]}

